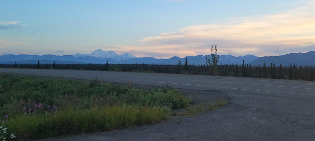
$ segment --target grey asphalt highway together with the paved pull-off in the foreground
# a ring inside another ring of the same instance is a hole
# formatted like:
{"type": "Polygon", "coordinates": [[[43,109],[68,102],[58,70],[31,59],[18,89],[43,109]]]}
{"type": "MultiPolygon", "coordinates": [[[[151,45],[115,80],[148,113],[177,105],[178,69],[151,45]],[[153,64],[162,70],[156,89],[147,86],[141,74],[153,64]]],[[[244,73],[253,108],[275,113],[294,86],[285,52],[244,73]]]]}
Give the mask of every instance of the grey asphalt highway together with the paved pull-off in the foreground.
{"type": "Polygon", "coordinates": [[[159,128],[162,123],[142,127],[145,129],[138,127],[141,130],[123,129],[123,132],[91,135],[80,138],[81,141],[160,141],[171,140],[170,136],[179,141],[315,141],[315,82],[312,81],[85,70],[0,68],[1,72],[168,85],[179,89],[220,91],[230,97],[230,104],[224,108],[183,119],[181,129],[173,125],[174,128],[170,126],[164,131],[159,128]]]}

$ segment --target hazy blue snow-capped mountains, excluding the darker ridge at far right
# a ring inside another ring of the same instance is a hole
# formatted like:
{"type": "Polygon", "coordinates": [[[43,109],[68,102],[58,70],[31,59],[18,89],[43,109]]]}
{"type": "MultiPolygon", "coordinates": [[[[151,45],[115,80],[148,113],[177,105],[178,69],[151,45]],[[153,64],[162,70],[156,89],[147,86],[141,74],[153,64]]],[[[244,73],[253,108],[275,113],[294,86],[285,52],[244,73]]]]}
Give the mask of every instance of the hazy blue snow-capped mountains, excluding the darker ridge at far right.
{"type": "MultiPolygon", "coordinates": [[[[187,56],[188,64],[191,65],[205,65],[206,64],[206,57],[203,55],[197,56],[187,56]]],[[[235,57],[232,55],[222,55],[220,56],[219,64],[241,64],[244,60],[245,63],[250,63],[253,60],[257,59],[257,56],[253,55],[246,55],[244,57],[235,57]]],[[[37,64],[37,61],[40,60],[41,63],[51,63],[55,61],[57,64],[68,64],[68,63],[93,63],[93,64],[105,64],[107,61],[110,64],[170,64],[176,65],[179,61],[181,63],[185,62],[185,57],[180,58],[174,56],[169,59],[156,59],[153,57],[135,57],[130,53],[125,53],[122,55],[118,55],[114,51],[103,51],[101,49],[97,49],[90,54],[80,54],[76,53],[74,55],[13,55],[13,54],[6,54],[0,56],[0,64],[14,64],[14,62],[18,64],[37,64]]]]}

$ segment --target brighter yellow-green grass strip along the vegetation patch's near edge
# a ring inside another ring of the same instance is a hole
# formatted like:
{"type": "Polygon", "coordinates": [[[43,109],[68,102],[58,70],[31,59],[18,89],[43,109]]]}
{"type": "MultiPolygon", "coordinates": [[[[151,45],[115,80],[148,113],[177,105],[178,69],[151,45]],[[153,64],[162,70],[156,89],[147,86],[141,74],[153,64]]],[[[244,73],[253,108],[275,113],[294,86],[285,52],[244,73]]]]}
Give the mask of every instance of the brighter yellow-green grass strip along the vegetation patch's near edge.
{"type": "Polygon", "coordinates": [[[56,114],[19,115],[7,122],[18,139],[109,131],[168,119],[167,109],[149,106],[96,106],[87,110],[68,107],[56,114]]]}

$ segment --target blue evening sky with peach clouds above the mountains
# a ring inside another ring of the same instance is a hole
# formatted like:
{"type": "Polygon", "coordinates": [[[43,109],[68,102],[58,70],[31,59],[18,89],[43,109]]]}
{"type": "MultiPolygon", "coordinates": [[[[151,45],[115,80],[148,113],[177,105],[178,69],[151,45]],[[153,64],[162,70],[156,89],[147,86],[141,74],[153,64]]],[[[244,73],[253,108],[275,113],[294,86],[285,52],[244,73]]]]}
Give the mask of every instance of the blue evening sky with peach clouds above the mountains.
{"type": "Polygon", "coordinates": [[[315,0],[1,0],[0,55],[137,57],[315,50],[315,0]]]}

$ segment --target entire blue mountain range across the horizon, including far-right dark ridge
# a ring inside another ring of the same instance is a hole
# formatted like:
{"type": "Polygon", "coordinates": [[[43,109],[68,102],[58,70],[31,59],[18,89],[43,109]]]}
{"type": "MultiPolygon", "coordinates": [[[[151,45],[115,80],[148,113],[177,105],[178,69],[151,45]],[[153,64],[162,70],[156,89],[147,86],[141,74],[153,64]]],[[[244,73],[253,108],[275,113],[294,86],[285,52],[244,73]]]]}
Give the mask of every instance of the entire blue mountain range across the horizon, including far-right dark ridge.
{"type": "MultiPolygon", "coordinates": [[[[186,56],[188,64],[191,65],[205,65],[206,57],[208,55],[197,55],[197,56],[186,56]]],[[[76,53],[74,55],[13,55],[5,54],[0,56],[0,64],[37,64],[40,60],[41,64],[50,63],[55,61],[56,64],[105,64],[108,61],[109,64],[169,64],[176,65],[181,61],[181,64],[185,63],[185,58],[180,58],[174,56],[169,59],[156,59],[153,57],[135,57],[130,53],[125,53],[118,55],[114,51],[103,51],[95,50],[90,54],[80,54],[76,53]]],[[[310,51],[308,53],[290,53],[281,56],[269,56],[269,57],[258,57],[254,55],[246,55],[235,57],[232,55],[220,55],[218,64],[238,64],[241,65],[242,62],[250,65],[270,65],[271,61],[277,66],[281,63],[283,66],[289,66],[290,61],[292,64],[306,66],[315,65],[315,51],[310,51]]]]}

